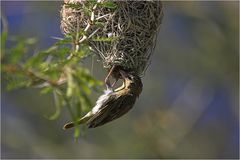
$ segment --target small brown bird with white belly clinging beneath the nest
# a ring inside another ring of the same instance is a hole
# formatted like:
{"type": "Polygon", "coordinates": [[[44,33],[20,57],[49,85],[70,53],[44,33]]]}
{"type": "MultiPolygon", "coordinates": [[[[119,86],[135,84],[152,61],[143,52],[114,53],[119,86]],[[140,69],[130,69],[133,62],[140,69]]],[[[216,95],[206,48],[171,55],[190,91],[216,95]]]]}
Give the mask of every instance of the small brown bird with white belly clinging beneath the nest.
{"type": "Polygon", "coordinates": [[[87,124],[88,128],[102,126],[127,113],[135,104],[137,97],[142,92],[141,78],[133,72],[113,66],[109,71],[105,83],[107,90],[101,95],[96,105],[77,122],[70,122],[63,126],[63,129],[74,127],[75,124],[87,124]],[[110,83],[110,76],[115,79],[110,83]],[[123,80],[123,85],[113,89],[118,79],[123,80]]]}

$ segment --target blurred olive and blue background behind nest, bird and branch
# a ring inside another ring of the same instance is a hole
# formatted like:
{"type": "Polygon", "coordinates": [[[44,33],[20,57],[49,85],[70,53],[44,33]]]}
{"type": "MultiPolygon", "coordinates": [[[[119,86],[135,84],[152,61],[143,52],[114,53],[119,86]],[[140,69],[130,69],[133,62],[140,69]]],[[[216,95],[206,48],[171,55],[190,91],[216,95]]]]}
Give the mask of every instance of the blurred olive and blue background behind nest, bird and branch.
{"type": "MultiPolygon", "coordinates": [[[[37,37],[40,50],[63,37],[61,4],[1,1],[1,10],[10,36],[37,37]]],[[[66,109],[45,118],[52,95],[6,92],[2,81],[1,158],[239,158],[239,2],[163,4],[144,89],[128,114],[75,141],[62,130],[66,109]]],[[[93,74],[104,79],[99,62],[93,74]]]]}

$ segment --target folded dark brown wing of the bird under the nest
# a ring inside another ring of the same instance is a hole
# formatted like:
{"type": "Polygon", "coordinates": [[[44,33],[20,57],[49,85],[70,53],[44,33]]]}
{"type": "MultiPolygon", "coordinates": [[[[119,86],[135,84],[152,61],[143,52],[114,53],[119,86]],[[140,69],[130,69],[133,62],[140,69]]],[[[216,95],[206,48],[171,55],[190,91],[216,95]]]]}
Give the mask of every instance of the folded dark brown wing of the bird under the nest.
{"type": "Polygon", "coordinates": [[[124,95],[109,100],[97,114],[87,121],[88,127],[95,128],[121,117],[133,107],[135,101],[136,97],[133,95],[124,95]]]}

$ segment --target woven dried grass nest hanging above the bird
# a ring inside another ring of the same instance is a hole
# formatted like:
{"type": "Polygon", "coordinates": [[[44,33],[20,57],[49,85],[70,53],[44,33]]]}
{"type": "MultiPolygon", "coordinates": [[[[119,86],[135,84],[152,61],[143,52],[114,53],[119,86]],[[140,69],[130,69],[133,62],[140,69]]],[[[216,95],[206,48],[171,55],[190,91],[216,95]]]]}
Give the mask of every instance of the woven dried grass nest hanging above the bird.
{"type": "Polygon", "coordinates": [[[83,32],[77,43],[87,41],[105,68],[119,65],[142,75],[155,47],[163,11],[162,3],[154,0],[98,0],[94,5],[65,0],[61,16],[62,32],[83,32]]]}

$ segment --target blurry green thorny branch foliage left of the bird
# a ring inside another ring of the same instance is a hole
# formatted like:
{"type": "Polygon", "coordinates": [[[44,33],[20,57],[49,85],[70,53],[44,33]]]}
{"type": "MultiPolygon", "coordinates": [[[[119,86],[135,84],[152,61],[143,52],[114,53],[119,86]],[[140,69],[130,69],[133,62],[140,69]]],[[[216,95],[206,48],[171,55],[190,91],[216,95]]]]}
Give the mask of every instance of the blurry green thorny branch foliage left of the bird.
{"type": "MultiPolygon", "coordinates": [[[[92,91],[99,91],[102,82],[82,64],[85,58],[93,56],[87,44],[80,44],[78,51],[70,49],[73,38],[68,36],[29,56],[36,44],[34,38],[15,39],[9,49],[4,47],[7,33],[2,34],[1,40],[1,72],[7,81],[7,90],[37,87],[40,94],[53,94],[55,112],[47,116],[50,120],[58,118],[64,106],[68,108],[72,121],[92,108],[90,95],[92,91]]],[[[75,127],[74,136],[79,135],[80,129],[75,127]]]]}

